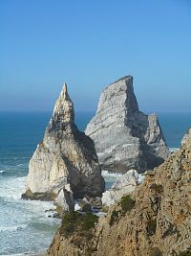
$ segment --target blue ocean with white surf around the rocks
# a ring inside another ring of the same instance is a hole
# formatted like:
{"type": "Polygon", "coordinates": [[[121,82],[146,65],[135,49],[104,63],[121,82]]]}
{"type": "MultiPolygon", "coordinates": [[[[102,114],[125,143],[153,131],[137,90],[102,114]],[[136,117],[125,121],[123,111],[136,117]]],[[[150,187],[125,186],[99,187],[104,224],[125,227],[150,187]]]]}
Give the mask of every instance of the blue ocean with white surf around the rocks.
{"type": "MultiPolygon", "coordinates": [[[[42,140],[52,113],[0,113],[0,255],[44,252],[53,239],[59,220],[49,218],[52,202],[21,200],[27,182],[32,152],[42,140]]],[[[81,130],[94,115],[78,112],[75,123],[81,130]]],[[[191,113],[158,113],[169,148],[191,127],[191,113]]],[[[118,175],[103,172],[107,188],[118,175]]]]}

